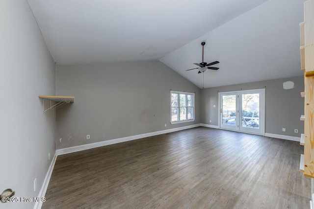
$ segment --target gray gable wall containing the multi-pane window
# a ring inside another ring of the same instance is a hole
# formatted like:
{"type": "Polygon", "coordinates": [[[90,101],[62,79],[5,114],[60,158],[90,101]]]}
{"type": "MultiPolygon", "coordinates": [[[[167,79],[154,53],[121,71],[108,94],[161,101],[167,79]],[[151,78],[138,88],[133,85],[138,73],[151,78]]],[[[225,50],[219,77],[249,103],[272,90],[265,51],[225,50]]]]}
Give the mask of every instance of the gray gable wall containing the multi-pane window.
{"type": "Polygon", "coordinates": [[[56,94],[75,96],[57,111],[58,149],[200,123],[200,89],[160,61],[57,65],[56,94]],[[170,124],[170,89],[196,93],[194,122],[170,124]]]}

